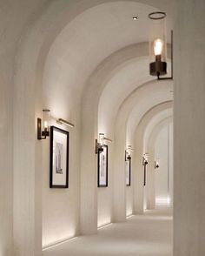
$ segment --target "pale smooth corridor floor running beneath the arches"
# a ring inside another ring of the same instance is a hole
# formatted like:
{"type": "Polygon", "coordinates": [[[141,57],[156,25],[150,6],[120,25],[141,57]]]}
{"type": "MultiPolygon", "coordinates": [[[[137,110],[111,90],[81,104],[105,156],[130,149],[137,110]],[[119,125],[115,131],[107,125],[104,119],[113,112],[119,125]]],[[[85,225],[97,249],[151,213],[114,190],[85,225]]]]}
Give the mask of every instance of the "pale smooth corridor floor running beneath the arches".
{"type": "Polygon", "coordinates": [[[43,252],[43,256],[171,256],[172,211],[157,209],[43,252]]]}

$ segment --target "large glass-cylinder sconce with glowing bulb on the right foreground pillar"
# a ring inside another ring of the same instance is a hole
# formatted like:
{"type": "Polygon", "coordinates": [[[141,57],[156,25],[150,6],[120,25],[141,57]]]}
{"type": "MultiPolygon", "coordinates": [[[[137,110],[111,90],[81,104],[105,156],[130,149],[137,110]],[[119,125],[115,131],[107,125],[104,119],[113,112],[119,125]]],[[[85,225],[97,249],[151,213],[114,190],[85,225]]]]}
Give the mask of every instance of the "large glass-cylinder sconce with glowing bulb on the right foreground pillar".
{"type": "Polygon", "coordinates": [[[156,11],[149,13],[149,18],[154,21],[149,39],[150,57],[154,61],[149,64],[149,73],[156,76],[158,80],[173,79],[173,30],[171,30],[171,77],[161,77],[167,74],[166,63],[166,37],[165,17],[166,13],[156,11]]]}

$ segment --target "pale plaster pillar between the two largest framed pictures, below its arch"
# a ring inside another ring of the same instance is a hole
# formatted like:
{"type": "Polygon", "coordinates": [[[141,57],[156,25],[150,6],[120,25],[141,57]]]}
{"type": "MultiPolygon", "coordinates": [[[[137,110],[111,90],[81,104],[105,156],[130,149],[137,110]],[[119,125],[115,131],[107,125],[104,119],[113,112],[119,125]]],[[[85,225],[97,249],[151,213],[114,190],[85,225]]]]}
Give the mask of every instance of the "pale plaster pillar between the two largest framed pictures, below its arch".
{"type": "Polygon", "coordinates": [[[95,152],[97,133],[95,115],[95,109],[86,105],[83,111],[81,156],[80,223],[82,234],[97,232],[97,155],[95,152]],[[89,115],[87,115],[88,110],[89,115]]]}

